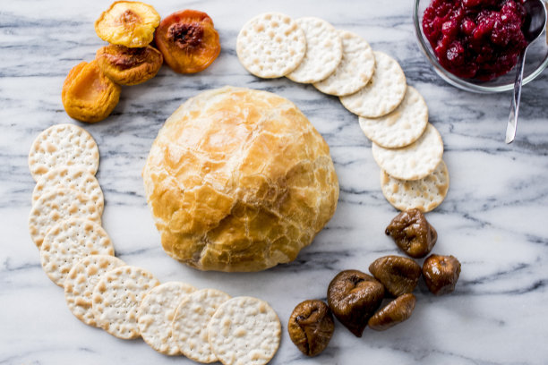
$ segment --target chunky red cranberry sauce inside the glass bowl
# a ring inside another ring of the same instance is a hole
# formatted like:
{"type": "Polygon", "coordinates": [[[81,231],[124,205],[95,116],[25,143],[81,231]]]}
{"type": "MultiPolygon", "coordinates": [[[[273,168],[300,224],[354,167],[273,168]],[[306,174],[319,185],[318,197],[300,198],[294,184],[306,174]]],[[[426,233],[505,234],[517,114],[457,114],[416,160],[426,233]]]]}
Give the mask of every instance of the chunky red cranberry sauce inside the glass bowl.
{"type": "Polygon", "coordinates": [[[518,63],[527,41],[521,27],[523,0],[432,0],[423,31],[433,53],[449,72],[489,81],[518,63]]]}

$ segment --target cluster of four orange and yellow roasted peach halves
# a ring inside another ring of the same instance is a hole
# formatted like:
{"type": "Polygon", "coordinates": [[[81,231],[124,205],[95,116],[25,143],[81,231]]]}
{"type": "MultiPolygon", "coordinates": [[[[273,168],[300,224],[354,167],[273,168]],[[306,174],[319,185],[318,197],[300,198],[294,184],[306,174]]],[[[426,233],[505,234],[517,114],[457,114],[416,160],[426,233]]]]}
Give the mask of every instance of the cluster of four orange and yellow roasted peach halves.
{"type": "Polygon", "coordinates": [[[61,94],[66,113],[81,122],[105,119],[118,104],[120,85],[149,81],[164,62],[175,72],[194,73],[220,53],[213,21],[196,10],[160,21],[149,4],[116,1],[95,21],[95,31],[108,46],[98,49],[90,63],[73,67],[61,94]]]}

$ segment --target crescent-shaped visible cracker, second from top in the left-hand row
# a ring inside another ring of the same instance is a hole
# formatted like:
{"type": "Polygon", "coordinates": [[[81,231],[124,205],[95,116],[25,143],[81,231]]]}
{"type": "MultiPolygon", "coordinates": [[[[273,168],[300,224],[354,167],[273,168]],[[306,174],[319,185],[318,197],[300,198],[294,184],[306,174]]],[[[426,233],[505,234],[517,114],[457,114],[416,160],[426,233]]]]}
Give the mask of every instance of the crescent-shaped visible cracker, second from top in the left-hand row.
{"type": "Polygon", "coordinates": [[[105,198],[95,175],[82,167],[57,167],[40,177],[32,191],[32,203],[36,202],[46,191],[56,188],[69,188],[81,191],[97,205],[99,214],[103,213],[105,198]]]}

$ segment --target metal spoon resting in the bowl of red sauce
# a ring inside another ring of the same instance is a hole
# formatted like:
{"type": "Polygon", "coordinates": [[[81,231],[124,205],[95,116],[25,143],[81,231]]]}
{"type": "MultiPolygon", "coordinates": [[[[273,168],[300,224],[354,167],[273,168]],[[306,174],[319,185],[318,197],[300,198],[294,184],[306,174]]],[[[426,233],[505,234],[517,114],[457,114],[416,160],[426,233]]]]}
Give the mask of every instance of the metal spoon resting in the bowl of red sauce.
{"type": "Polygon", "coordinates": [[[506,127],[506,143],[511,143],[516,137],[518,127],[519,100],[521,99],[521,81],[523,81],[523,66],[527,48],[538,38],[546,25],[546,9],[541,0],[527,0],[523,6],[526,10],[526,21],[521,30],[527,40],[527,47],[519,55],[518,68],[516,69],[516,81],[514,82],[514,98],[510,105],[508,125],[506,127]]]}

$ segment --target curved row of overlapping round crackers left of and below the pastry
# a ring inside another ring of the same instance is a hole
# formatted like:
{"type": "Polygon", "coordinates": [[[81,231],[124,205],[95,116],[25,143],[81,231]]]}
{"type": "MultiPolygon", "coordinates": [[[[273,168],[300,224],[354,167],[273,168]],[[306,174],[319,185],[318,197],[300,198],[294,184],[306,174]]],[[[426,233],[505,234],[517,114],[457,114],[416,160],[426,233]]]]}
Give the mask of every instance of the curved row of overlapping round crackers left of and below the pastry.
{"type": "Polygon", "coordinates": [[[64,287],[74,316],[118,338],[141,336],[167,355],[204,363],[268,363],[278,351],[281,327],[267,302],[180,282],[160,284],[149,271],[114,256],[101,226],[98,161],[95,140],[73,124],[41,132],[29,154],[37,182],[30,236],[47,276],[64,287]]]}

